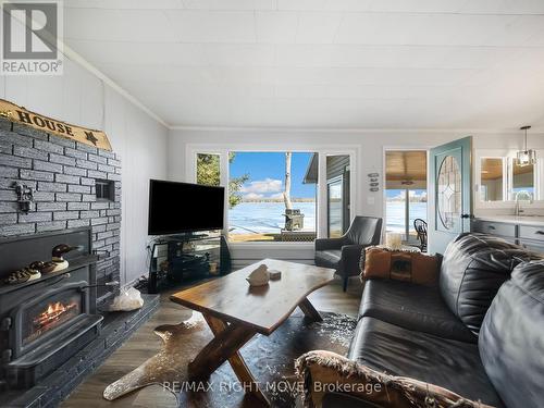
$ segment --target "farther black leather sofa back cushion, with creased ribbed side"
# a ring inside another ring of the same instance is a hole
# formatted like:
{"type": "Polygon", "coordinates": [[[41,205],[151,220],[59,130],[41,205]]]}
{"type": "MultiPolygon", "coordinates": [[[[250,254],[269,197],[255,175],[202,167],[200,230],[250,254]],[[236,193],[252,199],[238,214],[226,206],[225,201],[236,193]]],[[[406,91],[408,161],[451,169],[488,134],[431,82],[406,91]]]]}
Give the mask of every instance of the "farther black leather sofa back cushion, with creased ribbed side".
{"type": "Polygon", "coordinates": [[[442,297],[449,310],[478,335],[500,285],[520,262],[541,256],[485,234],[461,234],[444,254],[440,272],[442,297]]]}

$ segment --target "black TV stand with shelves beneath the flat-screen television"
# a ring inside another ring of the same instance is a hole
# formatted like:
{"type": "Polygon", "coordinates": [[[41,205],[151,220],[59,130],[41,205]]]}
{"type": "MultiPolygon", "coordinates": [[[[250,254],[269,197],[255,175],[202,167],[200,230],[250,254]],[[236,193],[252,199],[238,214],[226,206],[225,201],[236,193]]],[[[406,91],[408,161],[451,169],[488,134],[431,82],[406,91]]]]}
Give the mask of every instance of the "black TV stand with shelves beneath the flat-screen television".
{"type": "Polygon", "coordinates": [[[149,246],[148,292],[156,294],[189,280],[225,273],[222,242],[221,235],[212,233],[157,237],[149,246]]]}

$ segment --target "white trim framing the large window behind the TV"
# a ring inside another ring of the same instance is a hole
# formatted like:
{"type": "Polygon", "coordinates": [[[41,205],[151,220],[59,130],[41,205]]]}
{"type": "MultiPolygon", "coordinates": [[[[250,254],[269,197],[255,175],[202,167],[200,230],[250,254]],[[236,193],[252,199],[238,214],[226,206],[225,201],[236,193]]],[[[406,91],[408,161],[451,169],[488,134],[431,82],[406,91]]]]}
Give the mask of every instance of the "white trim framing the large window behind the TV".
{"type": "MultiPolygon", "coordinates": [[[[290,144],[288,146],[283,146],[279,148],[273,145],[238,145],[238,144],[188,144],[185,149],[185,177],[186,182],[196,182],[196,159],[198,153],[210,153],[220,154],[220,178],[221,185],[228,185],[228,152],[234,151],[248,151],[248,152],[312,152],[319,154],[319,172],[318,172],[318,186],[317,186],[317,205],[318,205],[318,215],[317,215],[317,226],[318,226],[318,237],[326,237],[326,157],[327,156],[349,156],[350,165],[350,191],[349,200],[351,206],[351,211],[349,212],[350,221],[355,215],[359,213],[359,200],[358,200],[358,159],[360,158],[360,146],[358,145],[344,145],[342,147],[333,145],[309,145],[309,144],[290,144]]],[[[228,206],[225,200],[225,231],[228,231],[228,206]]],[[[259,248],[281,248],[281,247],[296,247],[297,249],[313,247],[313,243],[230,243],[228,245],[236,248],[254,248],[258,246],[259,248]]]]}

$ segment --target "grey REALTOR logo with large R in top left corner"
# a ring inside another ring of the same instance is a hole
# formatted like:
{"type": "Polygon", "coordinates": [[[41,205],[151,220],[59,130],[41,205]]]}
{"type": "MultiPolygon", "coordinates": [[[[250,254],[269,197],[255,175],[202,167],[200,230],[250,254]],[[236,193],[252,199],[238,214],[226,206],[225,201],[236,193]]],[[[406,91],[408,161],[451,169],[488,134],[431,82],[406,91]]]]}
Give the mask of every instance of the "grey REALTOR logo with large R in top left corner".
{"type": "Polygon", "coordinates": [[[61,2],[2,1],[2,74],[62,74],[61,34],[61,2]]]}

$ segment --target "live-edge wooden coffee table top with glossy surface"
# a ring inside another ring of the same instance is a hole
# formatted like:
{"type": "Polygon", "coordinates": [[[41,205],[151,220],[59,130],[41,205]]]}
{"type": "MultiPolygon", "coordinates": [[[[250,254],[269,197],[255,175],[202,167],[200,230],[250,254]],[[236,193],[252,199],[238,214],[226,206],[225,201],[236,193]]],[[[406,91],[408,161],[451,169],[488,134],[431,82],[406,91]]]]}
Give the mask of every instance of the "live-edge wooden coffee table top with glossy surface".
{"type": "Polygon", "coordinates": [[[301,263],[264,259],[226,276],[178,292],[176,304],[211,314],[223,321],[251,326],[269,335],[307,301],[313,290],[334,279],[334,270],[301,263]],[[250,287],[246,277],[260,264],[282,271],[282,279],[265,286],[250,287]]]}

